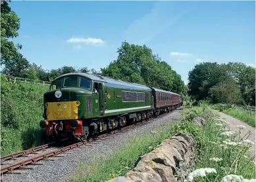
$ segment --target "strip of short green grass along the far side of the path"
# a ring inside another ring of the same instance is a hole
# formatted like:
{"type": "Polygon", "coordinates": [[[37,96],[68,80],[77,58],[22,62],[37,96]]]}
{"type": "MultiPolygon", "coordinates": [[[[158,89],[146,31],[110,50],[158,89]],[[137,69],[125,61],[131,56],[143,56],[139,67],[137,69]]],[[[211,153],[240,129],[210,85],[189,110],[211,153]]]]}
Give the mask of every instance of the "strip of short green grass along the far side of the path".
{"type": "Polygon", "coordinates": [[[255,127],[255,114],[250,115],[247,111],[239,111],[237,109],[224,109],[222,113],[225,113],[226,115],[230,115],[234,118],[238,118],[239,120],[242,120],[246,124],[249,124],[250,126],[255,127]]]}

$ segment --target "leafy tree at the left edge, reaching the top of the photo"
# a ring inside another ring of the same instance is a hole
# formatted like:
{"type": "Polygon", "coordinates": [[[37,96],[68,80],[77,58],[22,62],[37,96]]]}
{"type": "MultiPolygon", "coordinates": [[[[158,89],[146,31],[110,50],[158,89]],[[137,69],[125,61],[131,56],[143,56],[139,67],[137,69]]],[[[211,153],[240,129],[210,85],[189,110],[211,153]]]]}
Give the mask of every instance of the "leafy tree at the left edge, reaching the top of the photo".
{"type": "Polygon", "coordinates": [[[1,65],[5,65],[3,73],[19,77],[22,71],[30,66],[28,60],[18,52],[21,45],[14,45],[14,37],[18,37],[20,18],[9,7],[7,1],[1,1],[1,65]]]}

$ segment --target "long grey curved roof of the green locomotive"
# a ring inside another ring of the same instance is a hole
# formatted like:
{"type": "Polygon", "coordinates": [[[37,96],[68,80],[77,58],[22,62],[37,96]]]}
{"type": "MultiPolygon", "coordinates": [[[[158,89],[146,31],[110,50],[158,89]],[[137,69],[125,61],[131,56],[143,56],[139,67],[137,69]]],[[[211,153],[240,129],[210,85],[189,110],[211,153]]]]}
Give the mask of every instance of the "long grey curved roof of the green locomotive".
{"type": "Polygon", "coordinates": [[[100,81],[100,82],[106,82],[109,84],[122,84],[122,86],[127,86],[127,88],[136,88],[136,89],[140,89],[140,90],[151,90],[151,88],[143,85],[143,84],[137,84],[137,83],[132,83],[132,82],[124,82],[124,81],[120,81],[120,80],[116,80],[116,79],[112,79],[110,77],[103,77],[101,75],[95,75],[95,74],[88,74],[88,73],[66,73],[64,75],[61,75],[59,77],[57,77],[55,80],[57,79],[61,79],[62,77],[66,77],[66,76],[80,76],[80,77],[86,77],[88,79],[91,79],[93,81],[100,81]]]}

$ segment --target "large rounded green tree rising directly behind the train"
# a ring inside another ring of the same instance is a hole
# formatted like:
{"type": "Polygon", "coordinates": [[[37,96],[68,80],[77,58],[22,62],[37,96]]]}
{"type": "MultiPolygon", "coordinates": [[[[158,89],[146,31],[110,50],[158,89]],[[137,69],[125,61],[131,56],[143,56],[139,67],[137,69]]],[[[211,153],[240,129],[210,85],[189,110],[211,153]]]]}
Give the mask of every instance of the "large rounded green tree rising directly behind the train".
{"type": "Polygon", "coordinates": [[[161,61],[161,58],[154,55],[147,46],[130,45],[124,42],[117,52],[117,60],[101,68],[102,75],[180,94],[185,92],[180,75],[166,62],[161,61]]]}

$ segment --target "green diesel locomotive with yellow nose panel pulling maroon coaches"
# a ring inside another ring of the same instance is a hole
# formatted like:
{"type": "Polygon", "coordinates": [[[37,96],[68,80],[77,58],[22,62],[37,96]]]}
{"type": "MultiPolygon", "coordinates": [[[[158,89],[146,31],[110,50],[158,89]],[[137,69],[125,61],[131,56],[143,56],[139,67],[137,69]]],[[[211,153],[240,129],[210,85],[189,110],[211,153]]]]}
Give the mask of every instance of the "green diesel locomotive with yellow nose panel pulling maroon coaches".
{"type": "Polygon", "coordinates": [[[89,73],[66,73],[43,94],[39,126],[55,141],[84,141],[182,105],[174,92],[89,73]]]}

